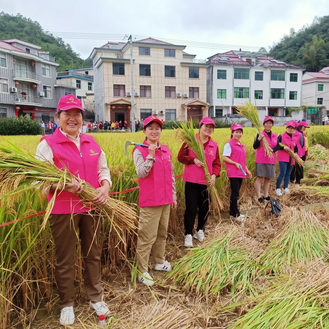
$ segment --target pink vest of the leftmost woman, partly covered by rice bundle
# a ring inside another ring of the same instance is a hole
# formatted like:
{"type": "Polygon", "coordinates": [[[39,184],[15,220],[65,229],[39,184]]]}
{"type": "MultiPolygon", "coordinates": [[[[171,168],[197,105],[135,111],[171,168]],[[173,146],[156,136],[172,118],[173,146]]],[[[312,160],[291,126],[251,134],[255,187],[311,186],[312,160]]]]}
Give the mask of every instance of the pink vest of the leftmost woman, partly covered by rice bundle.
{"type": "MultiPolygon", "coordinates": [[[[56,129],[53,135],[47,135],[41,138],[45,139],[53,152],[54,164],[61,170],[64,167],[88,182],[94,188],[98,188],[98,157],[101,154],[101,148],[89,135],[81,134],[81,153],[73,141],[66,138],[60,129],[56,129]]],[[[48,201],[51,200],[54,193],[48,194],[48,201]]],[[[62,191],[55,198],[52,214],[76,214],[89,211],[80,202],[80,198],[69,192],[62,191]]]]}

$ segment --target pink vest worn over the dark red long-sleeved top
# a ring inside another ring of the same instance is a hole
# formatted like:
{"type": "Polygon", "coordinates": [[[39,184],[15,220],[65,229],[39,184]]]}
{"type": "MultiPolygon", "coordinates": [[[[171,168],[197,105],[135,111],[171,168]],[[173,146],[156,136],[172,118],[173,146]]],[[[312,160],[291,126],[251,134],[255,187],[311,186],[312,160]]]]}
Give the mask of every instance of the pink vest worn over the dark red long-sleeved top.
{"type": "MultiPolygon", "coordinates": [[[[199,138],[199,134],[196,134],[195,136],[196,136],[196,138],[199,138]]],[[[188,153],[189,157],[197,158],[196,154],[191,150],[190,147],[189,147],[188,152],[189,152],[188,153]]],[[[216,152],[217,152],[217,143],[214,142],[211,139],[211,137],[209,137],[209,143],[204,148],[204,154],[205,154],[205,159],[206,159],[206,163],[207,163],[207,167],[210,172],[210,175],[213,174],[213,162],[216,157],[216,152]]],[[[199,168],[195,164],[186,164],[185,165],[183,181],[207,185],[206,176],[205,176],[203,168],[199,168]]]]}

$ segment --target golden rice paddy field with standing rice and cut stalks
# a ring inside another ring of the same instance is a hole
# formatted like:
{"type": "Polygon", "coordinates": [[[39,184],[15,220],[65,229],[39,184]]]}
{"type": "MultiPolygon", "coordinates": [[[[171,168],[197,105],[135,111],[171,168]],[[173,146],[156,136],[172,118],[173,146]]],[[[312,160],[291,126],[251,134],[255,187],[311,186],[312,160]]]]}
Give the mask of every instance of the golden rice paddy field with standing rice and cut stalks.
{"type": "MultiPolygon", "coordinates": [[[[284,127],[273,127],[280,134],[284,127]]],[[[143,133],[93,134],[107,156],[113,186],[123,191],[138,186],[132,158],[124,152],[126,140],[142,142],[143,133]]],[[[247,167],[255,169],[252,148],[256,130],[245,128],[247,167]]],[[[174,263],[170,275],[152,271],[157,283],[149,289],[136,283],[136,235],[124,230],[121,239],[109,234],[103,221],[102,283],[111,314],[108,328],[329,328],[329,126],[307,130],[310,157],[305,185],[291,187],[280,197],[284,211],[278,218],[257,202],[253,181],[240,191],[243,225],[233,225],[227,214],[230,187],[222,166],[216,189],[224,212],[211,216],[206,240],[184,247],[184,182],[176,179],[178,208],[170,215],[166,259],[174,263]],[[312,284],[310,283],[312,282],[312,284]]],[[[212,138],[222,154],[229,129],[215,129],[212,138]]],[[[20,149],[34,154],[40,136],[11,136],[20,149]]],[[[175,175],[183,173],[177,161],[181,143],[174,130],[160,139],[173,154],[175,175]]],[[[1,141],[5,143],[5,141],[1,141]]],[[[130,149],[132,151],[132,148],[130,149]]],[[[274,197],[275,180],[270,195],[274,197]]],[[[3,191],[2,191],[3,193],[3,191]]],[[[112,197],[138,203],[139,191],[112,197]]],[[[38,190],[20,195],[12,205],[1,200],[0,225],[44,211],[47,200],[38,190]]],[[[60,328],[54,277],[55,250],[48,225],[41,229],[38,215],[0,227],[0,328],[60,328]]],[[[89,310],[83,288],[83,258],[76,257],[76,322],[69,328],[96,329],[98,319],[89,310]]]]}

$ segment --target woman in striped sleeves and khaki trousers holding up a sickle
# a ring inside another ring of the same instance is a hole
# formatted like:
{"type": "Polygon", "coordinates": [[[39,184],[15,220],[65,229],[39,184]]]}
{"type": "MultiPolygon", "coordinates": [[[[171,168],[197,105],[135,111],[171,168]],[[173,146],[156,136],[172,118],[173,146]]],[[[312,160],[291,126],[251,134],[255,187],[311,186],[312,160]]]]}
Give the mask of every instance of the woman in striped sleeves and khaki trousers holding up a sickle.
{"type": "Polygon", "coordinates": [[[148,261],[153,250],[154,269],[169,272],[171,264],[164,258],[170,208],[177,208],[175,175],[171,152],[159,142],[163,122],[155,115],[145,119],[143,144],[136,146],[133,159],[139,179],[139,231],[137,240],[138,281],[152,286],[148,261]]]}

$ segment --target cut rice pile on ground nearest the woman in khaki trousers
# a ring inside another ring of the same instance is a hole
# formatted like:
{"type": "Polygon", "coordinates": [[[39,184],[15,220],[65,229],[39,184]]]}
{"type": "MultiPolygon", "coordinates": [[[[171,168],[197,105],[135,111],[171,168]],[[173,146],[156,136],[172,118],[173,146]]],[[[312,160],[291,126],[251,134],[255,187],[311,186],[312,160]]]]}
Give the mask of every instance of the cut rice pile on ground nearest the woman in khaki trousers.
{"type": "Polygon", "coordinates": [[[232,298],[246,292],[255,294],[252,283],[260,251],[257,242],[245,237],[236,226],[221,230],[218,237],[209,237],[211,240],[202,247],[191,249],[174,262],[167,277],[174,285],[206,297],[229,290],[232,298]]]}

